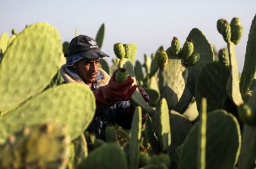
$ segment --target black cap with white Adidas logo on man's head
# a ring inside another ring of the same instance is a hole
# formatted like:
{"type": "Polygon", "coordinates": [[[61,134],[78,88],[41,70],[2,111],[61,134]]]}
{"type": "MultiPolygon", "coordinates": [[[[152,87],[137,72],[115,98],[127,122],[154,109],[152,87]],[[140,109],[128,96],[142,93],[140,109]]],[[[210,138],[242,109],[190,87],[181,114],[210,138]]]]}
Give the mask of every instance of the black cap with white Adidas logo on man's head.
{"type": "Polygon", "coordinates": [[[99,49],[97,42],[94,38],[88,37],[86,35],[79,35],[73,38],[68,47],[68,56],[80,55],[87,59],[96,59],[98,57],[109,57],[109,55],[99,49]]]}

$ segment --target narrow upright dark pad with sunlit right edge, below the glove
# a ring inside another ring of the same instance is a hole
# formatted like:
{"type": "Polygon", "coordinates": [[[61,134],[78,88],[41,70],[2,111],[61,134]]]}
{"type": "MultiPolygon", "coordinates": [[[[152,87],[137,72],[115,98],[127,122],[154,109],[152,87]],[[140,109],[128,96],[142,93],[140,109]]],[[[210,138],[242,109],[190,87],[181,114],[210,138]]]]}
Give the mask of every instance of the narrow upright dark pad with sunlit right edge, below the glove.
{"type": "Polygon", "coordinates": [[[129,144],[129,164],[131,169],[138,168],[140,137],[142,136],[142,108],[136,107],[131,122],[131,141],[129,144]]]}

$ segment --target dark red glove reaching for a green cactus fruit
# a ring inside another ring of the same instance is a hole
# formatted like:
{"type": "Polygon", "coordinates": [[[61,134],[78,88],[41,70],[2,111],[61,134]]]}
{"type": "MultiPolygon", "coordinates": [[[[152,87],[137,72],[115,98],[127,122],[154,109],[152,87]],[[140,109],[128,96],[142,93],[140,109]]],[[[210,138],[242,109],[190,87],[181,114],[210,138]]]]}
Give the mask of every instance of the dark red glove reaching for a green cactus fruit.
{"type": "Polygon", "coordinates": [[[96,113],[106,110],[116,102],[129,100],[133,92],[136,90],[137,85],[131,86],[133,79],[128,76],[128,79],[122,83],[116,82],[114,77],[116,72],[109,80],[109,84],[102,86],[97,90],[94,90],[94,96],[96,98],[96,113]]]}

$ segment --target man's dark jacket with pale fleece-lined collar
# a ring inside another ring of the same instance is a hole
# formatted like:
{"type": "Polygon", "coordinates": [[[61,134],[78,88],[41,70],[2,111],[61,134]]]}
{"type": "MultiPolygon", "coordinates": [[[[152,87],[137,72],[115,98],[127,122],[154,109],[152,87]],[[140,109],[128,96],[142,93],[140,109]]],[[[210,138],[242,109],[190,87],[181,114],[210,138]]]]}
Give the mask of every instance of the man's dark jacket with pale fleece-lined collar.
{"type": "MultiPolygon", "coordinates": [[[[82,79],[76,78],[78,76],[77,74],[75,74],[74,77],[73,73],[75,72],[70,72],[70,69],[67,70],[65,65],[61,67],[61,76],[63,77],[65,83],[81,83],[85,85],[82,79]]],[[[97,90],[97,88],[107,85],[109,79],[109,75],[104,70],[99,69],[96,83],[93,84],[92,89],[97,90]]],[[[87,128],[87,131],[94,133],[97,139],[105,140],[105,129],[107,125],[118,124],[125,129],[130,129],[133,112],[133,110],[130,110],[130,108],[130,101],[115,103],[113,106],[95,116],[94,120],[92,120],[91,124],[87,128]]]]}

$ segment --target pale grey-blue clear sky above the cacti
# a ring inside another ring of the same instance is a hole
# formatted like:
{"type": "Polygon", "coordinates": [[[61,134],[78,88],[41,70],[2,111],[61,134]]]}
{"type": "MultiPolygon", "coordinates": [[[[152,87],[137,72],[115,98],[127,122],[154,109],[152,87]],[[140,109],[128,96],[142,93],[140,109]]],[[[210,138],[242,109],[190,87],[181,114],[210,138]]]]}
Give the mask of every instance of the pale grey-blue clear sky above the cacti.
{"type": "Polygon", "coordinates": [[[105,24],[102,51],[109,54],[109,64],[115,58],[113,45],[137,44],[137,60],[143,62],[143,54],[150,55],[159,46],[167,49],[173,37],[184,44],[192,28],[200,29],[217,50],[226,47],[217,32],[219,18],[231,21],[241,19],[243,37],[236,45],[238,68],[243,69],[248,34],[253,17],[256,15],[255,0],[216,1],[87,1],[87,0],[1,0],[0,33],[15,28],[21,32],[25,25],[46,21],[58,29],[61,40],[69,41],[78,35],[95,38],[99,27],[105,24]]]}

